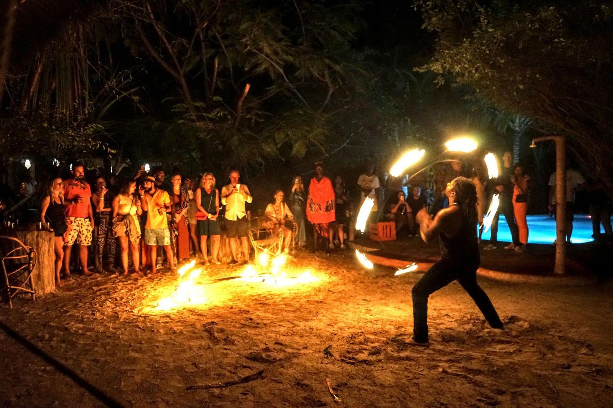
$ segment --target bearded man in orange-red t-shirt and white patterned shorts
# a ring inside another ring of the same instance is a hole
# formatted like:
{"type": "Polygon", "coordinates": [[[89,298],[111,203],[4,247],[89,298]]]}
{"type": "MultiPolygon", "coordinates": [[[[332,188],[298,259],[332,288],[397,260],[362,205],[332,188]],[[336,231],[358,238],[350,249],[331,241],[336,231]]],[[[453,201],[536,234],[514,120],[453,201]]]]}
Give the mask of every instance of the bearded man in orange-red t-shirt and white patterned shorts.
{"type": "Polygon", "coordinates": [[[91,275],[87,269],[87,247],[91,245],[91,232],[94,213],[91,209],[91,189],[85,181],[85,168],[82,164],[72,167],[72,178],[64,180],[64,213],[68,230],[64,241],[64,273],[70,275],[70,253],[77,241],[81,271],[91,275]]]}

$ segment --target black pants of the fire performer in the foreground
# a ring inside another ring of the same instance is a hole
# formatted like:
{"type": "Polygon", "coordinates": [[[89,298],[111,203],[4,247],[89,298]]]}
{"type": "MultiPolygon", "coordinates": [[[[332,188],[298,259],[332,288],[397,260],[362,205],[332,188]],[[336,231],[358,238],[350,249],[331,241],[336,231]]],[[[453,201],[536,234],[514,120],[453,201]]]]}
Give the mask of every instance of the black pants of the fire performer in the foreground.
{"type": "Polygon", "coordinates": [[[441,259],[432,265],[432,268],[413,286],[413,339],[416,342],[428,341],[428,297],[455,280],[473,298],[490,326],[502,327],[500,317],[490,298],[477,284],[478,267],[478,262],[467,263],[457,259],[441,259]]]}

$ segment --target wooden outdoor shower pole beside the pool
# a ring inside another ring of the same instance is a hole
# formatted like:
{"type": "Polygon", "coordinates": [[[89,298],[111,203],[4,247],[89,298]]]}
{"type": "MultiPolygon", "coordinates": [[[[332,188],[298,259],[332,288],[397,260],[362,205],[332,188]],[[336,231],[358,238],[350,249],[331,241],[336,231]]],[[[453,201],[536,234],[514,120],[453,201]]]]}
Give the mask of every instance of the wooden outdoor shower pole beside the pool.
{"type": "Polygon", "coordinates": [[[566,140],[559,135],[537,137],[530,147],[544,140],[555,142],[555,274],[566,273],[566,140]]]}

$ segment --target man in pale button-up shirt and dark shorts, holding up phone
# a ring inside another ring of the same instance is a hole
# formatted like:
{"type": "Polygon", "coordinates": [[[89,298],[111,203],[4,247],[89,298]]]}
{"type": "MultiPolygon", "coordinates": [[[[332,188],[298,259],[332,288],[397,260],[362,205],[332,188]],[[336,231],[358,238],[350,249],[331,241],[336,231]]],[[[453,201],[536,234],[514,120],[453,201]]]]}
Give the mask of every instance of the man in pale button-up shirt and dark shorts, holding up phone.
{"type": "Polygon", "coordinates": [[[245,260],[249,262],[249,221],[245,210],[245,203],[251,203],[253,197],[249,194],[249,189],[245,184],[239,184],[240,174],[237,170],[230,171],[230,184],[221,187],[221,203],[226,206],[226,233],[230,240],[230,251],[232,260],[230,265],[237,265],[237,244],[240,238],[243,246],[245,260]]]}

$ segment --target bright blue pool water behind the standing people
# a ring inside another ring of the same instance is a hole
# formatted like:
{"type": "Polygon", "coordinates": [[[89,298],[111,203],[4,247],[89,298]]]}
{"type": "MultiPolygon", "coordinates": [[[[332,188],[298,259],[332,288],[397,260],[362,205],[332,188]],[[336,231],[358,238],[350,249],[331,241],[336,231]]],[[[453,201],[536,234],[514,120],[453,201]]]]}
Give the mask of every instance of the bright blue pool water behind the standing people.
{"type": "MultiPolygon", "coordinates": [[[[555,219],[547,215],[529,215],[528,217],[528,243],[551,244],[555,240],[555,219]]],[[[600,232],[604,233],[600,225],[600,232]]],[[[490,231],[484,232],[481,240],[490,239],[490,231]]],[[[571,241],[575,244],[592,242],[592,220],[586,214],[575,214],[573,222],[573,236],[571,241]]],[[[511,232],[504,216],[498,221],[498,241],[511,242],[511,232]]]]}

